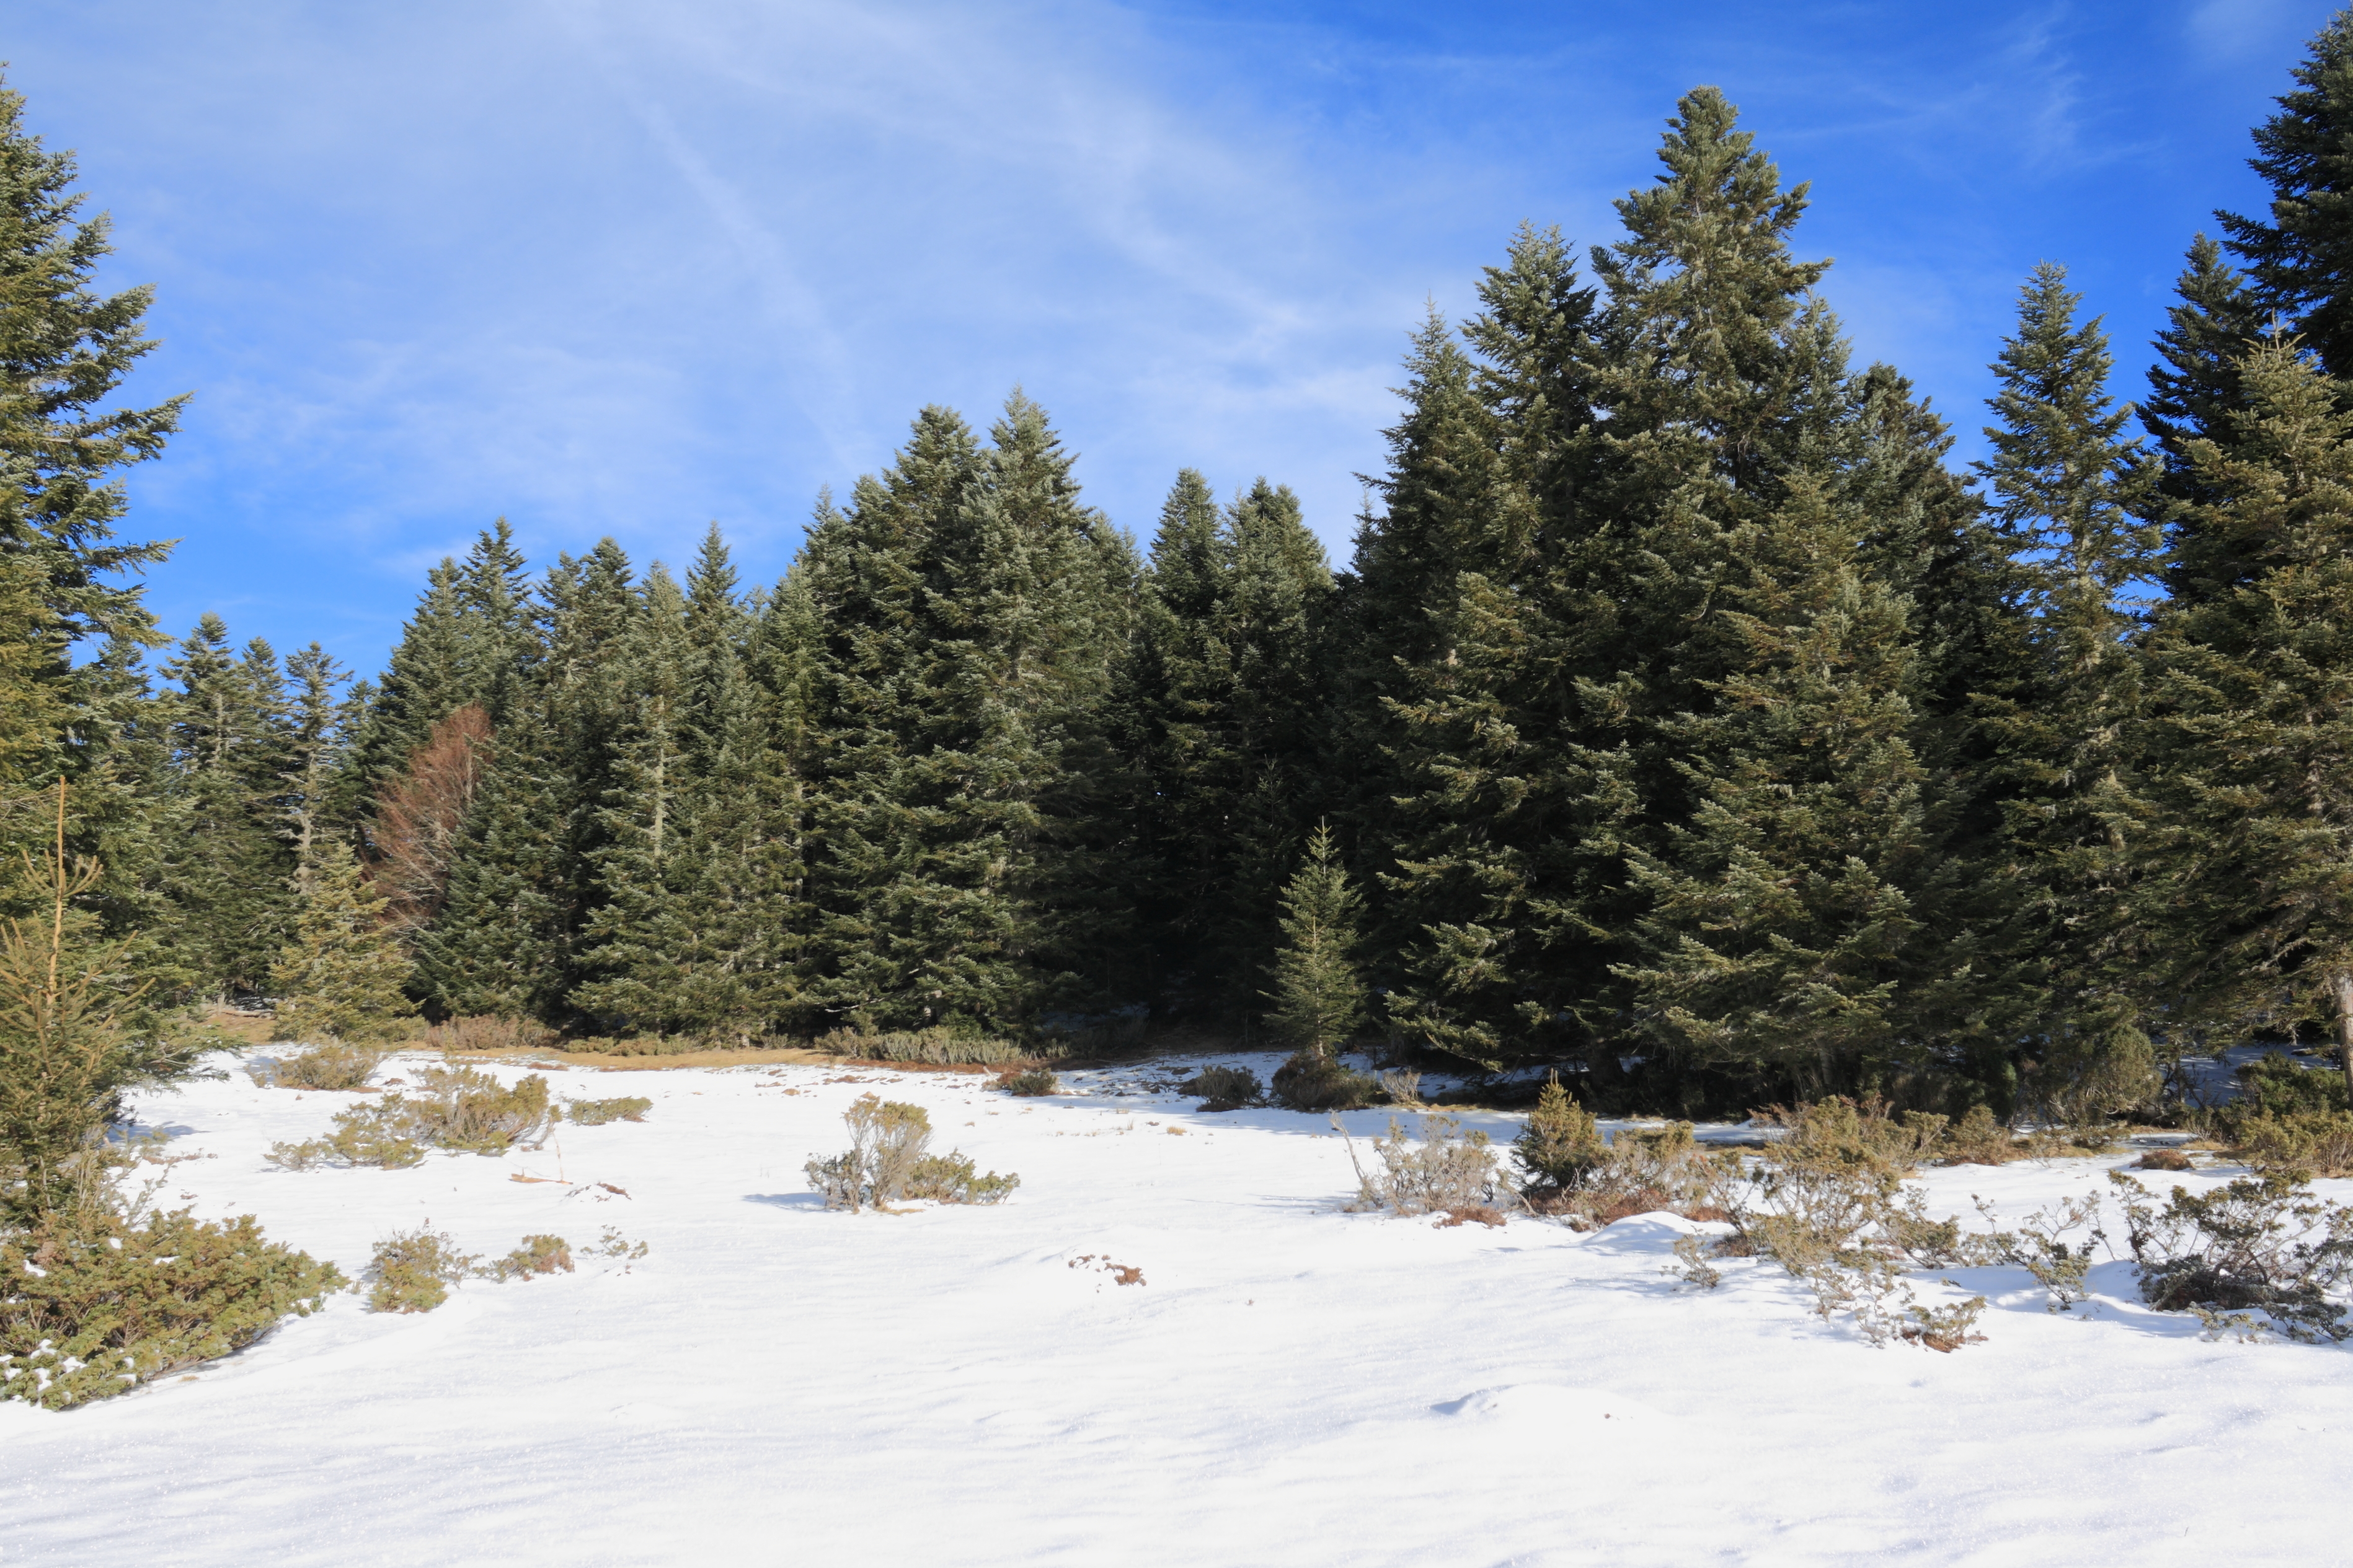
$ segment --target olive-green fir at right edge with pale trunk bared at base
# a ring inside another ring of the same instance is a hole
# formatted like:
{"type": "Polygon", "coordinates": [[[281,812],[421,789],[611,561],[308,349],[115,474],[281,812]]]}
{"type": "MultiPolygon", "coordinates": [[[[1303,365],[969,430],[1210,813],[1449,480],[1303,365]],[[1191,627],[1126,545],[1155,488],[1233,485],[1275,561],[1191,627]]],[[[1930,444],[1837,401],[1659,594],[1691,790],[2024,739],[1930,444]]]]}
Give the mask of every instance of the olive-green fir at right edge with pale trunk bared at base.
{"type": "Polygon", "coordinates": [[[2353,1084],[2353,416],[2275,334],[2231,440],[2188,444],[2195,527],[2249,578],[2167,604],[2134,903],[2167,1018],[2242,1034],[2334,1016],[2353,1084]]]}

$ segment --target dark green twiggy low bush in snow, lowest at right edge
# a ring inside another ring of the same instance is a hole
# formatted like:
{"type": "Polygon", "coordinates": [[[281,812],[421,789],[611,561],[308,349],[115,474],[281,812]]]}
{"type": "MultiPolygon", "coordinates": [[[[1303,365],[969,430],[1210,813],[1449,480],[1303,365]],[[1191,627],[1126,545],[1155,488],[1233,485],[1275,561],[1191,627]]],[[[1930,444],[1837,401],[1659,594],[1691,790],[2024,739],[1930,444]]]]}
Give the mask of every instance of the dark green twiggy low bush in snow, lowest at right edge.
{"type": "Polygon", "coordinates": [[[2353,1338],[2346,1307],[2332,1300],[2353,1274],[2353,1208],[2278,1175],[2207,1194],[2174,1187],[2162,1206],[2122,1171],[2108,1180],[2141,1265],[2141,1300],[2158,1312],[2193,1312],[2209,1338],[2266,1328],[2304,1342],[2353,1338]]]}

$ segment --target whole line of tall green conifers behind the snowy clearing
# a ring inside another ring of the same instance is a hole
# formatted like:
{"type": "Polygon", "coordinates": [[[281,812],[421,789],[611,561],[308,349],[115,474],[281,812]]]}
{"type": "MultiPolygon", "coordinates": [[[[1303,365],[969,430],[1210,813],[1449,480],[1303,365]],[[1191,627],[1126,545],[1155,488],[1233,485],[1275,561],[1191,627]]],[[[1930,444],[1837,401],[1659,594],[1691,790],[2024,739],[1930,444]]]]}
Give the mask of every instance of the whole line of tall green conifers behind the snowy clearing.
{"type": "Polygon", "coordinates": [[[2353,1074],[2353,21],[2294,82],[2151,395],[2040,266],[1967,470],[1704,87],[1619,240],[1525,226],[1412,336],[1344,569],[1193,470],[1139,548],[1014,395],[925,409],[776,583],[501,522],[348,689],[122,585],[179,402],[101,411],[146,294],[89,292],[5,99],[7,832],[71,783],[82,914],[172,999],[1282,1034],[1313,971],[1318,1030],[1600,1103],[2085,1117],[2249,1034],[2353,1074]]]}

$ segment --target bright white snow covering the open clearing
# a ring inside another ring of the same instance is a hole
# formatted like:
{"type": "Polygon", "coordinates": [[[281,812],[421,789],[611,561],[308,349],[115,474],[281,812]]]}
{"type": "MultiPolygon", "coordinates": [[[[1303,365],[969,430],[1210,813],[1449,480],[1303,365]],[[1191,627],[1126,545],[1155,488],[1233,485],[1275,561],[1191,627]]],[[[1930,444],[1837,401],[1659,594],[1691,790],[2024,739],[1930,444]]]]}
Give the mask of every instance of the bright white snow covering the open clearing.
{"type": "MultiPolygon", "coordinates": [[[[1988,1295],[1986,1342],[1871,1349],[1769,1262],[1678,1291],[1666,1215],[1341,1213],[1322,1117],[1198,1114],[1172,1077],[1012,1100],[960,1074],[569,1070],[562,1093],[645,1093],[649,1119],[308,1173],[261,1152],[348,1095],[158,1095],[148,1124],[202,1154],[165,1199],[256,1213],[348,1274],[419,1220],[489,1255],[607,1225],[649,1253],[426,1316],[339,1295],[193,1380],[0,1401],[0,1563],[2353,1559],[2353,1352],[2202,1342],[2125,1262],[2073,1316],[2024,1269],[1922,1279],[1988,1295]],[[826,1213],[800,1166],[866,1091],[1021,1190],[826,1213]]],[[[2125,1161],[1925,1180],[1937,1213],[1984,1194],[2019,1218],[2125,1161]]]]}

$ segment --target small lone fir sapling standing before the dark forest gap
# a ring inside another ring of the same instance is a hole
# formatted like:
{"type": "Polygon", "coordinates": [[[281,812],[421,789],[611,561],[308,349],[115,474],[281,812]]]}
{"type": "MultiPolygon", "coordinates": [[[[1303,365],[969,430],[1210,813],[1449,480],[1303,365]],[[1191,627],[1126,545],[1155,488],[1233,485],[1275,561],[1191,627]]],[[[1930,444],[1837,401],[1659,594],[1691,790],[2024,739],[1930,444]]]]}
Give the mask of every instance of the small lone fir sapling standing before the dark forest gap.
{"type": "Polygon", "coordinates": [[[1292,1110],[1355,1110],[1379,1098],[1379,1084],[1339,1063],[1339,1048],[1365,1023],[1365,980],[1355,969],[1362,898],[1348,886],[1332,830],[1308,837],[1306,860],[1282,889],[1282,947],[1266,1027],[1292,1046],[1275,1072],[1275,1100],[1292,1110]]]}

